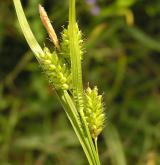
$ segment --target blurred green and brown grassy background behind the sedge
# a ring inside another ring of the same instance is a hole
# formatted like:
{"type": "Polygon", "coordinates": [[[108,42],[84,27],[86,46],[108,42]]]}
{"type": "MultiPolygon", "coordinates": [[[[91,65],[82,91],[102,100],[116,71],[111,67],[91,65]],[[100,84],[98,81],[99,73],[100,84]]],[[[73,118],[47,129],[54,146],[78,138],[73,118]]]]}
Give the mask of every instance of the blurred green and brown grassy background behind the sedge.
{"type": "MultiPolygon", "coordinates": [[[[60,36],[68,1],[22,3],[39,43],[51,47],[38,4],[60,36]]],[[[160,165],[160,1],[77,0],[77,17],[85,40],[84,86],[104,92],[102,164],[160,165]]],[[[0,165],[87,165],[11,0],[0,1],[0,165]]]]}

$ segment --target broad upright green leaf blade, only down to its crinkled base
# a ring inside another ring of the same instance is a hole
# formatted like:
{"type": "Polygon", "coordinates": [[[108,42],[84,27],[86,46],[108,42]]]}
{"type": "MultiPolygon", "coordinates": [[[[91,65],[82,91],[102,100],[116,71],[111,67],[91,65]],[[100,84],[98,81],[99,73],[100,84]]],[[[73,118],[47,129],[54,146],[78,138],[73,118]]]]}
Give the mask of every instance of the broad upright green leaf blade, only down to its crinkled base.
{"type": "Polygon", "coordinates": [[[83,85],[82,85],[82,68],[80,46],[76,34],[76,14],[75,14],[75,0],[70,0],[69,3],[69,37],[70,37],[70,58],[71,58],[71,72],[73,83],[73,94],[76,98],[78,107],[83,107],[83,85]]]}

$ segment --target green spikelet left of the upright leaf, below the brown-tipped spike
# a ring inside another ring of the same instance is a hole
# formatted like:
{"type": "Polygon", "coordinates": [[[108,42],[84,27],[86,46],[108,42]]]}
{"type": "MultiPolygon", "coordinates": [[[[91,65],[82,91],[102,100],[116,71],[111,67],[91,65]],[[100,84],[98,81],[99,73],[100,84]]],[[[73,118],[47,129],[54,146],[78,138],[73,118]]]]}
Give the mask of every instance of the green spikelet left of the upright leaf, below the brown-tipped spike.
{"type": "Polygon", "coordinates": [[[38,60],[52,86],[63,90],[70,88],[71,74],[66,65],[61,64],[56,52],[51,53],[48,48],[44,48],[44,54],[39,55],[38,60]]]}

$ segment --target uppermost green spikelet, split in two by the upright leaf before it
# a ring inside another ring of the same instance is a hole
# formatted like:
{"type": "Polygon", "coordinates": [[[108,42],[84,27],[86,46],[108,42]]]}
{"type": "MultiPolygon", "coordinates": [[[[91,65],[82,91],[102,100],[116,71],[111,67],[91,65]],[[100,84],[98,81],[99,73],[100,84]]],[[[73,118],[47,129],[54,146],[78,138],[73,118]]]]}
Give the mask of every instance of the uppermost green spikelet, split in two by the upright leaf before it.
{"type": "MultiPolygon", "coordinates": [[[[76,24],[76,36],[78,40],[78,45],[80,47],[80,56],[81,59],[83,58],[83,40],[82,40],[82,32],[79,30],[78,25],[76,24]]],[[[69,30],[64,29],[62,32],[62,42],[61,42],[61,55],[64,59],[67,60],[67,62],[70,64],[70,49],[69,49],[69,30]]]]}

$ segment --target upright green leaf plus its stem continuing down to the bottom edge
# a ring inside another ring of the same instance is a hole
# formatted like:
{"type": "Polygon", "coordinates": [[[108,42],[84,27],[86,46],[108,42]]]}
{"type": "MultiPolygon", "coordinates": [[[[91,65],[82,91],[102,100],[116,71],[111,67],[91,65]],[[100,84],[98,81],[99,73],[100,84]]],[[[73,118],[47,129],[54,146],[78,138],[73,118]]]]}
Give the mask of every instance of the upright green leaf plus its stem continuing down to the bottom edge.
{"type": "Polygon", "coordinates": [[[72,73],[72,85],[73,96],[76,103],[76,108],[81,116],[82,127],[85,132],[85,136],[89,142],[89,149],[91,150],[93,164],[99,165],[99,157],[96,153],[86,119],[84,117],[84,103],[83,103],[83,84],[82,84],[82,66],[81,66],[81,50],[78,42],[78,36],[76,33],[76,13],[75,13],[75,0],[69,1],[69,40],[70,40],[70,58],[71,58],[71,73],[72,73]]]}

